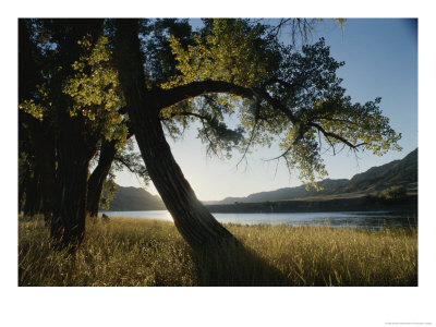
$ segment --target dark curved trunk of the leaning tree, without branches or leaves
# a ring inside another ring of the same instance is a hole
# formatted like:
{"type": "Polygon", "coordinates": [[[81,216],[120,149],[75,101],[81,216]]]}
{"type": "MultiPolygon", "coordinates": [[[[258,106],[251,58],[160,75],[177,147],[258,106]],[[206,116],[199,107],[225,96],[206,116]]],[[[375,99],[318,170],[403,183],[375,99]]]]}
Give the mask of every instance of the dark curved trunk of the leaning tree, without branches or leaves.
{"type": "Polygon", "coordinates": [[[116,43],[116,64],[136,142],[175,227],[195,251],[234,239],[197,199],[171,154],[159,119],[159,104],[153,102],[145,85],[137,21],[118,20],[116,43]]]}

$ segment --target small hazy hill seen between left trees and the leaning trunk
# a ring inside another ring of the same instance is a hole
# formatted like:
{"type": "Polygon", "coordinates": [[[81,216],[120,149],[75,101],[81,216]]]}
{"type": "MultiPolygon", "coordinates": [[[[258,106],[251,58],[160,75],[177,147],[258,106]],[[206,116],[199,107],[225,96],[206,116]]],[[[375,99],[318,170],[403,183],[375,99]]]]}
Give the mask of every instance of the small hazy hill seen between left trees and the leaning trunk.
{"type": "Polygon", "coordinates": [[[141,187],[117,185],[114,198],[110,202],[110,211],[164,210],[164,202],[141,187]]]}

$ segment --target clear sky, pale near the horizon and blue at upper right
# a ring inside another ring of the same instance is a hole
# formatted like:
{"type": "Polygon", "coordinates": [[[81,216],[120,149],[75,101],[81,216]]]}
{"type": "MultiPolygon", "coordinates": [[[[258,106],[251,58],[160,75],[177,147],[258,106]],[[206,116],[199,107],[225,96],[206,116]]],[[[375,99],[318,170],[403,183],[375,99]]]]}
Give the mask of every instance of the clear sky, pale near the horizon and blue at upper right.
{"type": "MultiPolygon", "coordinates": [[[[195,20],[193,21],[195,24],[195,20]]],[[[287,37],[287,35],[282,35],[287,37]]],[[[380,108],[391,126],[402,134],[402,152],[389,152],[383,157],[348,149],[323,158],[331,179],[350,179],[371,167],[401,159],[417,147],[417,24],[404,19],[349,19],[341,28],[334,22],[322,22],[312,41],[325,37],[331,56],[344,61],[337,75],[352,101],[365,102],[382,97],[380,108]]],[[[219,201],[227,196],[247,196],[252,193],[291,187],[301,184],[298,172],[289,173],[283,162],[266,159],[280,154],[278,147],[258,148],[239,166],[241,154],[222,161],[206,156],[206,148],[196,138],[192,126],[183,140],[168,138],[175,160],[202,201],[219,201]]],[[[122,186],[143,186],[126,170],[117,174],[122,186]]],[[[146,190],[157,194],[153,183],[146,190]]]]}

